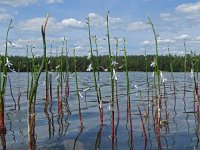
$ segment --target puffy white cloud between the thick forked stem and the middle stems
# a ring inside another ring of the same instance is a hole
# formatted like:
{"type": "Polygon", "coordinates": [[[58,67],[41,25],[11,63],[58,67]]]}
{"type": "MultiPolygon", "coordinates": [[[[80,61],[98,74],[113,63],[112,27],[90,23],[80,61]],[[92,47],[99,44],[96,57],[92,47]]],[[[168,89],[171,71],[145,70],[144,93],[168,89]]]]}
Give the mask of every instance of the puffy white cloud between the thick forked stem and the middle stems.
{"type": "Polygon", "coordinates": [[[65,27],[72,27],[72,28],[85,28],[86,24],[78,21],[76,19],[73,18],[69,18],[69,19],[64,19],[62,20],[62,25],[65,27]]]}

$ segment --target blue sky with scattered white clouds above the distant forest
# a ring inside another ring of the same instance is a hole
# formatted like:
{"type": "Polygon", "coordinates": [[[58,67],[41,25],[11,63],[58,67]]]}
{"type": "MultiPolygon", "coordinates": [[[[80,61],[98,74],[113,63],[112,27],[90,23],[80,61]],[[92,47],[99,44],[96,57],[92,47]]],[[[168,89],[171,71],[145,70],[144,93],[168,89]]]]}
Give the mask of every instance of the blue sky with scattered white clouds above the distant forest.
{"type": "MultiPolygon", "coordinates": [[[[0,0],[0,53],[4,53],[5,36],[9,33],[9,55],[26,55],[26,45],[33,45],[34,53],[42,54],[40,28],[49,14],[47,25],[48,53],[61,51],[63,38],[68,41],[70,52],[77,55],[89,51],[86,17],[91,20],[91,34],[97,36],[99,53],[108,54],[106,14],[109,13],[112,49],[115,37],[120,48],[126,38],[129,55],[155,54],[153,32],[148,17],[155,26],[159,54],[184,53],[183,41],[188,51],[200,53],[200,1],[198,0],[0,0]],[[12,43],[12,44],[10,44],[12,43]]],[[[94,44],[94,43],[93,43],[94,44]]]]}

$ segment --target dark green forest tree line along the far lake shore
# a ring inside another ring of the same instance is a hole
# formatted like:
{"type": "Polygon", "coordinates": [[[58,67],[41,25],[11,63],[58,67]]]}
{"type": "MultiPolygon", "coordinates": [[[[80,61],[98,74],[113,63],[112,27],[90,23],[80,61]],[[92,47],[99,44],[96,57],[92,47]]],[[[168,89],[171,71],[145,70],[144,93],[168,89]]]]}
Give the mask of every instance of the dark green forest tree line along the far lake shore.
{"type": "MultiPolygon", "coordinates": [[[[1,56],[1,60],[3,60],[4,56],[1,56]]],[[[150,67],[150,64],[153,62],[155,56],[154,55],[129,55],[127,56],[128,59],[128,68],[129,71],[146,71],[146,67],[148,71],[153,71],[153,67],[150,67]],[[148,64],[148,65],[146,65],[148,64]]],[[[73,57],[66,57],[66,56],[59,56],[59,57],[49,57],[48,58],[48,70],[49,71],[56,71],[58,70],[60,66],[60,60],[62,59],[62,68],[59,69],[59,71],[65,71],[66,70],[66,60],[68,59],[69,62],[69,71],[74,71],[74,62],[73,57]]],[[[100,71],[105,71],[104,69],[108,69],[109,71],[109,57],[107,55],[99,56],[98,58],[99,64],[100,64],[100,71]]],[[[8,60],[13,64],[10,68],[10,70],[20,71],[20,72],[26,72],[32,70],[32,58],[28,57],[22,57],[22,56],[10,56],[8,57],[8,60]]],[[[77,71],[79,72],[85,72],[88,65],[91,63],[90,60],[87,59],[87,56],[77,56],[77,71]]],[[[113,60],[117,62],[117,71],[124,71],[124,57],[118,56],[117,58],[113,57],[113,60]]],[[[197,66],[200,66],[200,55],[191,56],[186,55],[186,71],[191,71],[192,63],[195,62],[195,64],[199,64],[197,66]]],[[[42,57],[34,58],[35,65],[39,66],[42,62],[42,57]]],[[[184,72],[185,68],[185,56],[172,56],[172,55],[166,55],[166,56],[159,56],[159,68],[162,71],[171,71],[170,63],[173,66],[174,72],[184,72]]],[[[2,63],[2,65],[5,65],[2,63]]],[[[1,67],[2,68],[2,67],[1,67]]],[[[200,69],[198,68],[200,71],[200,69]]],[[[2,70],[1,70],[2,71],[2,70]]],[[[43,70],[45,71],[45,70],[43,70]]]]}

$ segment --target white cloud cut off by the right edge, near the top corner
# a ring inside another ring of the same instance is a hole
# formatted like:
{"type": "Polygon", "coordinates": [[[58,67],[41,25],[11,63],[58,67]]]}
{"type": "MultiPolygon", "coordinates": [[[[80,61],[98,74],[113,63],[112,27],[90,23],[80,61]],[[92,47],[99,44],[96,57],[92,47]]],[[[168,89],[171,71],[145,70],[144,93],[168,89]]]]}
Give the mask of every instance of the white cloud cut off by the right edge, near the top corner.
{"type": "Polygon", "coordinates": [[[181,4],[176,7],[176,10],[181,13],[199,13],[200,2],[181,4]]]}

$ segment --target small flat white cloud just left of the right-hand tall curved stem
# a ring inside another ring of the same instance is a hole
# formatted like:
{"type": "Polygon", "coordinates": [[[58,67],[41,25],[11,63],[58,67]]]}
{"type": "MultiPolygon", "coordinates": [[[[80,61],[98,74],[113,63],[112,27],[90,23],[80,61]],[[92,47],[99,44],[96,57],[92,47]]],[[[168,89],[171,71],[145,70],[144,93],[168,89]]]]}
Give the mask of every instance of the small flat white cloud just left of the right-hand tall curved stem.
{"type": "Polygon", "coordinates": [[[128,31],[137,31],[137,30],[144,30],[148,29],[150,26],[144,22],[133,22],[128,24],[127,30],[128,31]]]}

